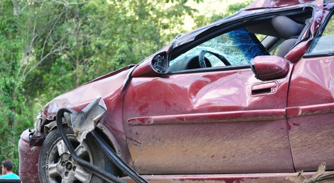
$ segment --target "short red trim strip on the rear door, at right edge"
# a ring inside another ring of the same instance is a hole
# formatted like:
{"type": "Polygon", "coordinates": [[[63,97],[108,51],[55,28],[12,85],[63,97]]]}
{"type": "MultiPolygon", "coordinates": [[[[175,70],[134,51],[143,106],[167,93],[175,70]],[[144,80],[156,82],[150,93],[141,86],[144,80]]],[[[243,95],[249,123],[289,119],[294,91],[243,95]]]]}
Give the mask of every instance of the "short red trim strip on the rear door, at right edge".
{"type": "Polygon", "coordinates": [[[287,118],[334,113],[334,103],[286,108],[287,118]]]}

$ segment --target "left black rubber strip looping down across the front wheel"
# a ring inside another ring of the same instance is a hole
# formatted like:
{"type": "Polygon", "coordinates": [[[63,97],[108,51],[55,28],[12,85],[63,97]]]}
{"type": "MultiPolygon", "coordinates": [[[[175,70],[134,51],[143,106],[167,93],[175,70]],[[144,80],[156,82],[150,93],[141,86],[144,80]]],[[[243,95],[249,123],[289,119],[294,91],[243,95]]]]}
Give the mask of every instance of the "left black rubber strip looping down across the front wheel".
{"type": "Polygon", "coordinates": [[[86,169],[88,169],[89,171],[91,171],[93,174],[95,174],[96,176],[109,181],[109,182],[113,182],[113,183],[126,183],[123,180],[113,176],[112,174],[100,169],[99,167],[90,164],[84,160],[82,160],[81,158],[79,158],[76,154],[75,151],[71,145],[71,143],[69,142],[69,140],[67,139],[66,134],[64,133],[64,129],[61,123],[61,117],[63,115],[64,112],[68,112],[68,113],[72,113],[72,110],[67,109],[67,108],[61,108],[58,110],[57,115],[56,115],[56,123],[57,123],[57,127],[58,127],[58,131],[59,134],[61,136],[61,138],[63,139],[68,151],[70,152],[72,158],[81,166],[85,167],[86,169]]]}

